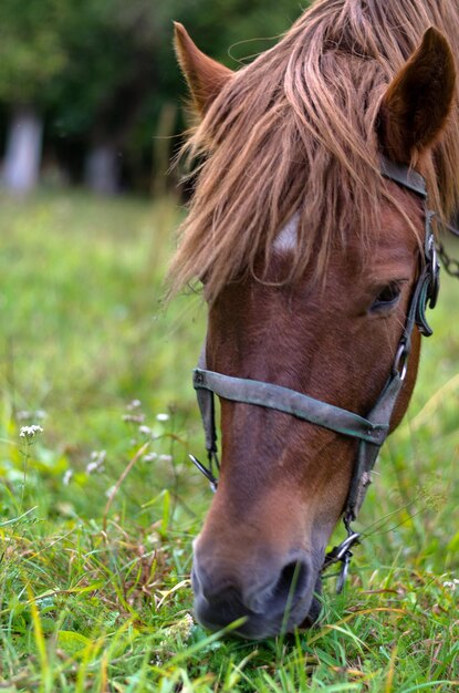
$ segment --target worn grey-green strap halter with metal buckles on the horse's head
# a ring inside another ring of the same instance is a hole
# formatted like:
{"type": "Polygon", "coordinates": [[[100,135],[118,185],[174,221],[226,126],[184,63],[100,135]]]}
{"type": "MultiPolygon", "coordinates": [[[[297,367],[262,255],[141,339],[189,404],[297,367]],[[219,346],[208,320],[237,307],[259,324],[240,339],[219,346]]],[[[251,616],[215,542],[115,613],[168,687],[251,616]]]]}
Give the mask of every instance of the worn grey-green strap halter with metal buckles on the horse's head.
{"type": "Polygon", "coordinates": [[[425,235],[419,277],[413,291],[405,328],[398,342],[392,371],[369,414],[363,417],[354,412],[310,397],[289,387],[208,371],[206,369],[205,349],[199,360],[199,368],[194,371],[192,377],[206,435],[208,466],[200,463],[194,455],[190,455],[190,459],[210,482],[210,487],[213,492],[218,487],[213,467],[217,470],[220,468],[217,449],[215,394],[232,402],[264,406],[291,414],[310,424],[322,426],[359,441],[350,490],[343,510],[343,521],[347,537],[325,556],[322,567],[322,571],[324,571],[334,563],[342,563],[336,587],[338,592],[342,591],[347,577],[352,558],[351,549],[355,544],[358,544],[361,538],[361,535],[355,532],[351,525],[356,519],[362,507],[372,480],[371,475],[379,449],[389,434],[392,414],[407,373],[413,330],[417,325],[420,333],[425,337],[432,334],[426,320],[426,309],[427,307],[435,308],[439,290],[440,267],[431,227],[435,213],[427,207],[426,180],[419,173],[410,169],[408,166],[395,164],[385,157],[382,157],[380,173],[385,178],[393,180],[423,199],[425,235]]]}

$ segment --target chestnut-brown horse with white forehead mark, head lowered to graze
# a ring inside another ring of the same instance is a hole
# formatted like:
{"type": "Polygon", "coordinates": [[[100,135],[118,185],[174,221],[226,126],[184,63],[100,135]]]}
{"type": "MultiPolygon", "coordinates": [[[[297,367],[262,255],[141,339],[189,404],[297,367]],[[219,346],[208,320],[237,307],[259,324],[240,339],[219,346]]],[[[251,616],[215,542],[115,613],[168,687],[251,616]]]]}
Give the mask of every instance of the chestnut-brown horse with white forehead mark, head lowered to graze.
{"type": "MultiPolygon", "coordinates": [[[[320,0],[236,73],[180,24],[176,48],[201,163],[171,276],[175,290],[204,282],[206,368],[367,416],[425,260],[426,208],[405,183],[414,169],[425,178],[440,219],[458,206],[457,1],[320,0]]],[[[416,325],[410,341],[390,431],[416,381],[416,325]]],[[[246,617],[250,638],[311,624],[358,441],[227,396],[221,432],[195,542],[197,617],[212,629],[246,617]]]]}

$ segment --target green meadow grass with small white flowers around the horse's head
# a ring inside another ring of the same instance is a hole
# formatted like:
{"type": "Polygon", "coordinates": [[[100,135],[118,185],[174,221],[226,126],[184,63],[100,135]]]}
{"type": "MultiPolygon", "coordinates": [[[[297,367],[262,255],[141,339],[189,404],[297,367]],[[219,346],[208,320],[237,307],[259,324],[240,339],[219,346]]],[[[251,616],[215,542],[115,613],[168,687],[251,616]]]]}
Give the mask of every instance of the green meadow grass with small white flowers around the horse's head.
{"type": "Polygon", "coordinates": [[[160,300],[177,206],[0,203],[0,690],[459,690],[453,280],[346,593],[326,581],[320,627],[246,643],[191,617],[191,540],[210,500],[187,463],[202,447],[189,374],[205,311],[194,296],[160,300]],[[21,438],[29,424],[43,433],[21,438]]]}

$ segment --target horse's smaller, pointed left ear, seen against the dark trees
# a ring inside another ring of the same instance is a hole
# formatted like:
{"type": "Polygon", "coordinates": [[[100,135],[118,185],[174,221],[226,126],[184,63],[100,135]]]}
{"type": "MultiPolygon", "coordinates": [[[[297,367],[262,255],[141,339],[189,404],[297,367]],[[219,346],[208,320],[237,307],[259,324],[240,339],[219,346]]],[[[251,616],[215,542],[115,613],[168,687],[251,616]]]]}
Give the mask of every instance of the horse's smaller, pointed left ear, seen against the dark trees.
{"type": "Polygon", "coordinates": [[[195,106],[204,115],[233,72],[202,53],[182,24],[174,22],[174,27],[179,65],[188,82],[195,106]]]}

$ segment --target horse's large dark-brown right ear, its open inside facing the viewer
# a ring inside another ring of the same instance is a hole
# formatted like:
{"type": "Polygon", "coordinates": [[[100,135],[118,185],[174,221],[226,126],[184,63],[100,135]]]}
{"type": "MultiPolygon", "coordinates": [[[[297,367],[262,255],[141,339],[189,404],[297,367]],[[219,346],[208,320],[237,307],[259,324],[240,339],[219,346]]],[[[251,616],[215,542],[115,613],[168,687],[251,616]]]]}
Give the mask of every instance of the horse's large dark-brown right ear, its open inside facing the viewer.
{"type": "Polygon", "coordinates": [[[383,99],[378,135],[384,153],[410,164],[431,147],[446,126],[455,89],[451,49],[431,27],[383,99]]]}

